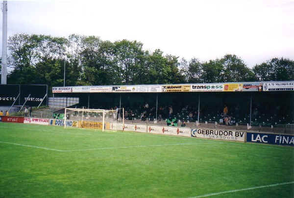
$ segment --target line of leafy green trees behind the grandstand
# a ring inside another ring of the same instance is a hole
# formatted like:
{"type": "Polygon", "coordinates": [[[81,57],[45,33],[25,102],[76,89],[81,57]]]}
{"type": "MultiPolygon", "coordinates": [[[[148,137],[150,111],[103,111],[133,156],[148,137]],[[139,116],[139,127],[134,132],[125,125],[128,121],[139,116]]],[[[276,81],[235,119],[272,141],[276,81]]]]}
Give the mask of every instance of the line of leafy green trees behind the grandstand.
{"type": "Polygon", "coordinates": [[[294,61],[272,58],[252,69],[234,54],[199,61],[180,59],[137,41],[103,41],[97,36],[15,34],[8,39],[8,84],[132,85],[294,80],[294,61]]]}

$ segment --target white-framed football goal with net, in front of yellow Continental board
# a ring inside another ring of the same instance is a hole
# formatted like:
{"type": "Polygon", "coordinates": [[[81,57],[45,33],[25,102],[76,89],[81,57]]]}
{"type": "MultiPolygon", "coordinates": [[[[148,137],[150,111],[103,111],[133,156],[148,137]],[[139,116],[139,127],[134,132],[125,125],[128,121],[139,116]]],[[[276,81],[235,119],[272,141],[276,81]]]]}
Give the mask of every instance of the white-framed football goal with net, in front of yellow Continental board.
{"type": "Polygon", "coordinates": [[[67,121],[71,121],[76,122],[76,126],[80,128],[117,130],[118,121],[124,122],[124,113],[121,117],[121,111],[124,112],[123,108],[116,110],[66,108],[64,127],[66,128],[67,121]]]}

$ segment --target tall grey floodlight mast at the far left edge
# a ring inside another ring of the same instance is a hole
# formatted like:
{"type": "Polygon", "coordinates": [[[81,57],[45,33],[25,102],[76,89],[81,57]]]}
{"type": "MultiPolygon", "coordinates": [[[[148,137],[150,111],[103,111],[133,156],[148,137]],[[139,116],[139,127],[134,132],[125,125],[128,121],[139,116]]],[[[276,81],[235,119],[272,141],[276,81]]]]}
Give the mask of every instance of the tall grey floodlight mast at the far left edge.
{"type": "Polygon", "coordinates": [[[3,0],[1,84],[7,84],[7,0],[3,0]]]}

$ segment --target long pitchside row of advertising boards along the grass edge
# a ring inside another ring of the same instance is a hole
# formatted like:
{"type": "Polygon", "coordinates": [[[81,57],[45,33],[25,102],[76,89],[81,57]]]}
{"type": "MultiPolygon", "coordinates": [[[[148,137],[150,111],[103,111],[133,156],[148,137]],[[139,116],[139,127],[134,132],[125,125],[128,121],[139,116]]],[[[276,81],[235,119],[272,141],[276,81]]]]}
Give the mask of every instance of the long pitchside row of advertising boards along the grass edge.
{"type": "MultiPolygon", "coordinates": [[[[42,119],[42,118],[24,118],[14,116],[0,116],[0,122],[9,123],[24,123],[24,124],[44,124],[55,126],[70,126],[70,127],[85,127],[102,129],[102,123],[94,122],[77,122],[77,121],[64,121],[55,119],[42,119]],[[83,124],[83,125],[81,125],[83,124]]],[[[105,125],[106,129],[110,129],[109,124],[105,125]]],[[[113,128],[113,127],[111,127],[113,128]]],[[[117,130],[134,131],[143,133],[154,133],[163,135],[186,136],[206,139],[229,140],[239,142],[250,142],[260,144],[282,145],[294,147],[294,135],[283,134],[267,134],[267,133],[252,133],[245,131],[235,130],[217,130],[207,128],[186,128],[186,127],[171,127],[171,126],[158,126],[147,124],[117,124],[117,130]]]]}

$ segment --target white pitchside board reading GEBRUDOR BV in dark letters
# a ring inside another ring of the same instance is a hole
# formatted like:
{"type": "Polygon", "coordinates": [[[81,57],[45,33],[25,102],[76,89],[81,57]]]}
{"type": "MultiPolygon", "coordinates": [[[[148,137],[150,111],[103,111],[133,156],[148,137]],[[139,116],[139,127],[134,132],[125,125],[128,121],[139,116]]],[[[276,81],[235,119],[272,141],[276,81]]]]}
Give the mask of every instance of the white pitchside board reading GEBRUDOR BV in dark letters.
{"type": "Polygon", "coordinates": [[[245,142],[245,132],[231,130],[192,129],[192,137],[245,142]]]}

